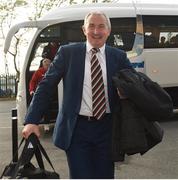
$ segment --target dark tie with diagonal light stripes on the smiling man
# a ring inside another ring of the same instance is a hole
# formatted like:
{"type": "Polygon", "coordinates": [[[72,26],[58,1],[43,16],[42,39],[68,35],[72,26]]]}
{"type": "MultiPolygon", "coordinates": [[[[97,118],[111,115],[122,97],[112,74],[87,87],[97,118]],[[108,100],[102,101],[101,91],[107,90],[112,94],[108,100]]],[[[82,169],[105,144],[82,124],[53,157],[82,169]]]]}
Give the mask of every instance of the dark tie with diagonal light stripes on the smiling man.
{"type": "Polygon", "coordinates": [[[102,70],[98,58],[96,56],[96,53],[99,51],[99,49],[93,48],[91,51],[91,85],[93,116],[99,120],[106,113],[106,98],[102,70]]]}

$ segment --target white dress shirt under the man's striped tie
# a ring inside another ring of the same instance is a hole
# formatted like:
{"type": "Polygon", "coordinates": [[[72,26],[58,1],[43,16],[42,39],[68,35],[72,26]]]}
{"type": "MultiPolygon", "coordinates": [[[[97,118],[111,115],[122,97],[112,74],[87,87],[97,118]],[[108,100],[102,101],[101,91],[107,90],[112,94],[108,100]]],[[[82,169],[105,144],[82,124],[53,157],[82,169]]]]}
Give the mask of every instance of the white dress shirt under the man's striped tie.
{"type": "MultiPolygon", "coordinates": [[[[83,94],[80,108],[80,115],[93,116],[92,113],[92,87],[91,87],[91,49],[93,47],[87,41],[86,43],[86,56],[85,56],[85,72],[83,82],[83,94]]],[[[105,45],[99,48],[100,51],[96,54],[103,74],[105,98],[106,98],[106,113],[110,113],[109,101],[108,101],[108,88],[107,88],[107,70],[106,70],[106,55],[105,45]]]]}

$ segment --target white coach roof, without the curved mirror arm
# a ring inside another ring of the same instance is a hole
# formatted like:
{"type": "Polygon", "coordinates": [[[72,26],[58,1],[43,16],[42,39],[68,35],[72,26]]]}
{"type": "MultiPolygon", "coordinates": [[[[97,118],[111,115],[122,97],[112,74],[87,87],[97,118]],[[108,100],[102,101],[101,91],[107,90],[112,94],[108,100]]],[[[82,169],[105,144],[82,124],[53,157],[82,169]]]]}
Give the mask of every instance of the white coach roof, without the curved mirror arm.
{"type": "Polygon", "coordinates": [[[91,3],[77,4],[67,7],[59,7],[43,16],[42,20],[61,21],[82,20],[89,11],[99,10],[105,12],[109,17],[134,17],[142,15],[178,15],[178,4],[161,3],[91,3]],[[134,8],[135,7],[135,8],[134,8]]]}

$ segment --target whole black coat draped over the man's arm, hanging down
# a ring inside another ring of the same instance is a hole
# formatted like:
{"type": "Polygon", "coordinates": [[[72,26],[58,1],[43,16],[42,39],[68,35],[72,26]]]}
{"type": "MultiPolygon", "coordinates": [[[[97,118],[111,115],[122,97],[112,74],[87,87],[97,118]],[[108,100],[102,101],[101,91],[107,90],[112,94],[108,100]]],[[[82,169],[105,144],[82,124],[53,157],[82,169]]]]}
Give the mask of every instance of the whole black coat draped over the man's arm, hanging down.
{"type": "Polygon", "coordinates": [[[113,114],[112,156],[123,161],[124,154],[144,154],[161,142],[163,130],[155,120],[171,116],[170,96],[143,73],[125,69],[113,77],[115,86],[127,99],[113,114]]]}

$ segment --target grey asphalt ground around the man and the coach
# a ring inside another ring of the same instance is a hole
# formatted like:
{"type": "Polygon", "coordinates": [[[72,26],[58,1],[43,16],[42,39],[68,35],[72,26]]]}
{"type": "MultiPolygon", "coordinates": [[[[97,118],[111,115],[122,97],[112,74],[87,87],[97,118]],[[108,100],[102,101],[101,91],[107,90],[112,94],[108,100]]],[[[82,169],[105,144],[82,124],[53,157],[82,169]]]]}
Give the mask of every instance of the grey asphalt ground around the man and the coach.
{"type": "MultiPolygon", "coordinates": [[[[0,101],[0,174],[12,159],[11,109],[15,106],[15,101],[0,101]]],[[[161,122],[161,126],[164,129],[163,141],[143,156],[139,154],[127,156],[124,163],[117,163],[115,178],[178,179],[178,118],[161,122]]],[[[22,127],[19,122],[19,140],[22,127]]],[[[45,133],[43,127],[41,129],[41,143],[56,171],[61,178],[68,179],[65,153],[53,145],[52,130],[45,133]]]]}

